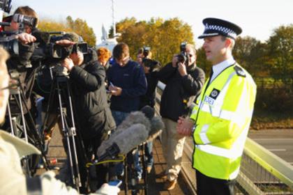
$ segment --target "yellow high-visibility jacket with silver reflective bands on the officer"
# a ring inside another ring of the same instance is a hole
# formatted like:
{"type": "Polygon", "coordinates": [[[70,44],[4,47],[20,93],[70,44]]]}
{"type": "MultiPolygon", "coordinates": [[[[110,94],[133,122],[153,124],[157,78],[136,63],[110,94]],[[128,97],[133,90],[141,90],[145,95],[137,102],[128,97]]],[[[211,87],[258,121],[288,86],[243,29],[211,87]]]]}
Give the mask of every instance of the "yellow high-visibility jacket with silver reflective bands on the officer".
{"type": "Polygon", "coordinates": [[[234,64],[203,87],[190,118],[195,120],[193,167],[211,178],[232,180],[253,115],[256,85],[234,64]]]}

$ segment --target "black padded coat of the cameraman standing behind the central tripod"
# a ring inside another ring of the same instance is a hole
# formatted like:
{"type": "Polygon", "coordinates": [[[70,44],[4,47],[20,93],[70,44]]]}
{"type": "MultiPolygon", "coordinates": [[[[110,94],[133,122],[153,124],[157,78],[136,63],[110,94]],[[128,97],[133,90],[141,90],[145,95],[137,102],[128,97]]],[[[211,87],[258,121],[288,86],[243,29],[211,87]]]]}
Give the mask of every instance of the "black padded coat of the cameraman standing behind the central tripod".
{"type": "Polygon", "coordinates": [[[105,131],[114,130],[116,124],[107,104],[105,91],[105,69],[97,61],[80,67],[74,66],[70,72],[73,100],[77,120],[83,139],[101,136],[105,131]]]}

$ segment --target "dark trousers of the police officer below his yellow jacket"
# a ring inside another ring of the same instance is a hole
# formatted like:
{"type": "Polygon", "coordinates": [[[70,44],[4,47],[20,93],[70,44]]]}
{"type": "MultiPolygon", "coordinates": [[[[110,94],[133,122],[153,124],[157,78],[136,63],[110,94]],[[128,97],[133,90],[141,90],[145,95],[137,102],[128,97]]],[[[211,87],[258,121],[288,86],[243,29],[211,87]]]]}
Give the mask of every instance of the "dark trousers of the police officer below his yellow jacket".
{"type": "Polygon", "coordinates": [[[199,195],[229,195],[234,194],[236,180],[220,180],[204,176],[195,170],[197,194],[199,195]]]}

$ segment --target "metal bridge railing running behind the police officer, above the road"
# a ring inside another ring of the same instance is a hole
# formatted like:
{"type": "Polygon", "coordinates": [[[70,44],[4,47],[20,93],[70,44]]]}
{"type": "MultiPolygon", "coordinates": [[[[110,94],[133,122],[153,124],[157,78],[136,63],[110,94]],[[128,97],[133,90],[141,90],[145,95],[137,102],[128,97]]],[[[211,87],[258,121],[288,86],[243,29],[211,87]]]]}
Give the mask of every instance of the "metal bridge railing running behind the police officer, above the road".
{"type": "MultiPolygon", "coordinates": [[[[165,84],[159,82],[156,93],[158,104],[164,88],[165,84]]],[[[156,111],[158,113],[158,107],[156,111]]],[[[187,144],[184,152],[191,157],[187,144]]],[[[293,166],[248,138],[236,181],[236,194],[293,194],[293,166]]]]}

